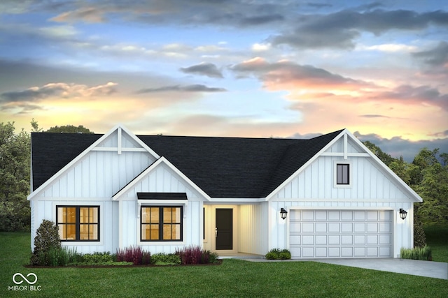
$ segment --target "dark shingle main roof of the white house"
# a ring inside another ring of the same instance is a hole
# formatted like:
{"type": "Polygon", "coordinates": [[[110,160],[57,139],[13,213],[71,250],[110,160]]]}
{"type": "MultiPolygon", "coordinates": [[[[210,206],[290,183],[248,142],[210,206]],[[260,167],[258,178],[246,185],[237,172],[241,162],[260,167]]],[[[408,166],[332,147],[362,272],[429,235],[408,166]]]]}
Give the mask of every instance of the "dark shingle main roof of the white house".
{"type": "MultiPolygon", "coordinates": [[[[137,135],[212,198],[264,198],[341,131],[309,140],[137,135]]],[[[33,189],[102,135],[33,133],[33,189]]]]}

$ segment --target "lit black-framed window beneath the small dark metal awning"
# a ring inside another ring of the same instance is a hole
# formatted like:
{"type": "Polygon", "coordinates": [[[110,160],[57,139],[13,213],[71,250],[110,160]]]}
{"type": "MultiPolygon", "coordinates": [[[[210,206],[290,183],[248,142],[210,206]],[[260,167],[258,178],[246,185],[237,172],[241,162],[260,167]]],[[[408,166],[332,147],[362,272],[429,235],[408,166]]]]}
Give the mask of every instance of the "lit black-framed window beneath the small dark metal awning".
{"type": "Polygon", "coordinates": [[[141,207],[141,241],[182,241],[182,207],[141,207]]]}

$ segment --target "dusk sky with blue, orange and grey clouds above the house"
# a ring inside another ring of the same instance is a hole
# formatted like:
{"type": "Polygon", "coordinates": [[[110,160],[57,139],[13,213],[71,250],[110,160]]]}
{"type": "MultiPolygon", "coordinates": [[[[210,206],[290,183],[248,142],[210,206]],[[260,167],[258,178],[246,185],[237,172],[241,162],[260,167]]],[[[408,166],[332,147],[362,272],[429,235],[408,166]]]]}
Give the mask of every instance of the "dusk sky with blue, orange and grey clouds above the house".
{"type": "Polygon", "coordinates": [[[448,152],[447,1],[1,0],[0,122],[448,152]]]}

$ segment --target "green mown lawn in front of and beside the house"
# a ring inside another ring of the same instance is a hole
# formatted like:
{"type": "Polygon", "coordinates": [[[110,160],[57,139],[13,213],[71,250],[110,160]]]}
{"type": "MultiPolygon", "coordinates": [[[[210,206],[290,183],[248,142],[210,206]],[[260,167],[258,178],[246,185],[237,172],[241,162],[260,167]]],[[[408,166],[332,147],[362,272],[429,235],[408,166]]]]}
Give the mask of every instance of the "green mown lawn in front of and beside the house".
{"type": "MultiPolygon", "coordinates": [[[[433,258],[447,261],[447,237],[436,247],[433,258]]],[[[0,297],[448,297],[448,281],[437,278],[318,262],[31,269],[28,259],[29,233],[0,232],[0,297]],[[8,290],[18,272],[36,274],[41,291],[8,290]]]]}

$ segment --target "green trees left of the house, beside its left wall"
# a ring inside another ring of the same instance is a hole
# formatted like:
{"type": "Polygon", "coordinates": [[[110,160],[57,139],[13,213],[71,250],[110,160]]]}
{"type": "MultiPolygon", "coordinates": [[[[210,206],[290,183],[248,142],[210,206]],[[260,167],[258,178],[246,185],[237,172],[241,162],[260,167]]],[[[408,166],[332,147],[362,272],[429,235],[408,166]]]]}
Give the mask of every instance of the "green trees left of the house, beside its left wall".
{"type": "Polygon", "coordinates": [[[14,123],[0,124],[0,231],[25,230],[30,225],[30,137],[14,123]]]}

